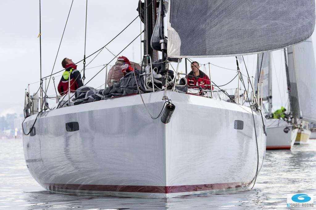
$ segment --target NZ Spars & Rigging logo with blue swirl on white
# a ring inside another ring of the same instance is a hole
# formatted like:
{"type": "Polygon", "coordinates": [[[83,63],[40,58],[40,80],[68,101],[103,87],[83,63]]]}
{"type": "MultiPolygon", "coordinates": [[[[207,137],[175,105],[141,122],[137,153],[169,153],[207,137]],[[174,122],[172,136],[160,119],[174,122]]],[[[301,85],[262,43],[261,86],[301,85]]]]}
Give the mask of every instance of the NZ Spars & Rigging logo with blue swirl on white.
{"type": "Polygon", "coordinates": [[[287,194],[286,207],[314,207],[314,195],[311,193],[287,194]]]}

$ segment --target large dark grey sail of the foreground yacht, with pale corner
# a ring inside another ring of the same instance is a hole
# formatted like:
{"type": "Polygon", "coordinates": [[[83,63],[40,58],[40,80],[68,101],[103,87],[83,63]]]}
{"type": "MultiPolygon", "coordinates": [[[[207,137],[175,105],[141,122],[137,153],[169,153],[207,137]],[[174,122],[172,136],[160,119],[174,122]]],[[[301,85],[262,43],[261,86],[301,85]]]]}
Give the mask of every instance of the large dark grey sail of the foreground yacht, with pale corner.
{"type": "Polygon", "coordinates": [[[299,43],[315,26],[315,0],[171,0],[168,57],[255,54],[299,43]]]}

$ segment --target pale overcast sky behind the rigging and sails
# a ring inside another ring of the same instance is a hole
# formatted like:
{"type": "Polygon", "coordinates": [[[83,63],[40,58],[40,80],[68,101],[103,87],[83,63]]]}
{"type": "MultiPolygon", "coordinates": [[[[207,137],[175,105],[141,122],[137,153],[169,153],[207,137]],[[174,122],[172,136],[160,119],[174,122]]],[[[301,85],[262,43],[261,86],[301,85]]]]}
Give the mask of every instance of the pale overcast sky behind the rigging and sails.
{"type": "MultiPolygon", "coordinates": [[[[104,46],[137,15],[138,0],[121,1],[88,1],[86,55],[104,46]]],[[[41,39],[42,39],[42,77],[50,75],[58,46],[62,37],[65,22],[70,9],[71,0],[41,1],[41,39]]],[[[53,72],[62,70],[61,61],[68,57],[74,62],[83,59],[84,33],[85,33],[85,0],[74,0],[70,17],[66,26],[63,41],[58,53],[53,72]]],[[[107,48],[114,54],[118,54],[141,31],[141,22],[138,18],[117,37],[107,48]]],[[[143,26],[142,26],[143,27],[143,26]]],[[[0,116],[6,113],[22,113],[24,107],[24,94],[27,84],[40,80],[40,43],[39,43],[39,0],[10,0],[0,2],[0,88],[2,99],[0,103],[0,116]]],[[[312,35],[313,40],[315,35],[312,35]]],[[[121,53],[131,61],[141,61],[141,45],[138,38],[132,45],[121,53]]],[[[314,49],[316,45],[314,44],[314,49]]],[[[285,92],[286,80],[283,66],[283,52],[273,53],[273,93],[274,108],[285,105],[287,94],[285,92]],[[276,81],[278,78],[278,82],[276,81]]],[[[96,67],[108,63],[114,56],[103,49],[86,70],[86,82],[103,67],[96,67]]],[[[257,56],[245,56],[248,70],[255,72],[257,56]]],[[[229,69],[236,69],[234,57],[194,59],[204,63],[212,63],[229,69]]],[[[90,59],[87,60],[87,63],[90,59]]],[[[115,60],[110,63],[114,64],[115,60]]],[[[82,69],[82,63],[78,64],[78,70],[82,69]]],[[[175,65],[174,65],[175,67],[175,65]]],[[[225,70],[211,65],[212,80],[220,85],[230,81],[236,71],[225,70]]],[[[242,73],[246,74],[242,66],[242,73]]],[[[180,70],[185,72],[184,61],[180,70]]],[[[60,75],[60,74],[57,74],[60,75]]],[[[56,87],[60,76],[56,76],[56,87]]],[[[105,71],[95,77],[88,85],[94,88],[104,84],[105,71]]],[[[48,82],[48,81],[47,81],[48,82]]],[[[236,84],[230,84],[227,88],[236,88],[236,84]]],[[[55,94],[53,83],[49,85],[49,95],[55,94]]],[[[36,92],[39,83],[30,86],[31,93],[36,92]]]]}

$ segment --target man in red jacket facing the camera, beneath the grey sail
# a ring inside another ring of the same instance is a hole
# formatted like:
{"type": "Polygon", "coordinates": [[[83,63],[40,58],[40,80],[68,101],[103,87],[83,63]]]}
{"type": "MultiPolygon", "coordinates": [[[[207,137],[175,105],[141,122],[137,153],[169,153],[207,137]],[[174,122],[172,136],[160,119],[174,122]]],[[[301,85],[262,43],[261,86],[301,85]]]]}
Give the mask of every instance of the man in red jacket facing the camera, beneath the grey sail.
{"type": "MultiPolygon", "coordinates": [[[[200,65],[197,61],[191,63],[192,71],[187,76],[188,86],[190,88],[209,89],[211,86],[210,78],[200,70],[200,65]]],[[[213,86],[212,86],[213,88],[213,86]]]]}

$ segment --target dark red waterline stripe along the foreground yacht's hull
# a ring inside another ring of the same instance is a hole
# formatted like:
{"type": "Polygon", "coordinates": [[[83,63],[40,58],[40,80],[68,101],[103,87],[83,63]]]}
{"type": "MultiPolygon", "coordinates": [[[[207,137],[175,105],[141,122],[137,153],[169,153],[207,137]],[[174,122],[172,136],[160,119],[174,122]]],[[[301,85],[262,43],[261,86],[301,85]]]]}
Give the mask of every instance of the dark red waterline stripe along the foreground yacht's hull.
{"type": "Polygon", "coordinates": [[[180,193],[204,190],[222,190],[238,188],[249,185],[245,182],[232,182],[221,184],[197,184],[179,186],[139,186],[139,185],[97,185],[97,184],[51,184],[42,183],[47,190],[88,190],[112,192],[146,192],[146,193],[180,193]]]}

